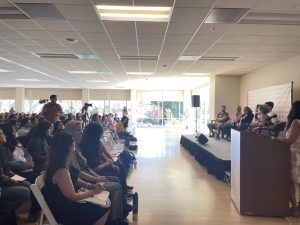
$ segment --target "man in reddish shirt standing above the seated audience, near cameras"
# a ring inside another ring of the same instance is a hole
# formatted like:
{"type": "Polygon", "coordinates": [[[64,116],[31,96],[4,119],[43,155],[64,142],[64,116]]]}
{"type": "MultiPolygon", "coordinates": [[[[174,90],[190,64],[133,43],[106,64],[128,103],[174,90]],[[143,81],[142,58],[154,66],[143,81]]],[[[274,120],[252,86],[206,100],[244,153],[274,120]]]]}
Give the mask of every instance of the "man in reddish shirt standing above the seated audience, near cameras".
{"type": "Polygon", "coordinates": [[[57,102],[57,95],[50,96],[50,102],[44,105],[42,114],[51,123],[55,123],[59,120],[60,114],[63,113],[62,108],[57,102]]]}

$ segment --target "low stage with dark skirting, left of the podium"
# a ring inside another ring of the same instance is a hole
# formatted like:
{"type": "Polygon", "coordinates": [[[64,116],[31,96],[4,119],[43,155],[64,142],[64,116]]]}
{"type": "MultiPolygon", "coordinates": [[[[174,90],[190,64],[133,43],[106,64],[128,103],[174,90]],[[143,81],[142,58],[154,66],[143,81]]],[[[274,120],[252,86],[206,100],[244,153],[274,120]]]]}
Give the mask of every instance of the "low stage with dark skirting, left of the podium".
{"type": "Polygon", "coordinates": [[[181,135],[180,144],[207,168],[208,173],[219,180],[224,180],[225,171],[230,170],[229,141],[208,138],[208,142],[202,145],[196,140],[195,135],[181,135]]]}

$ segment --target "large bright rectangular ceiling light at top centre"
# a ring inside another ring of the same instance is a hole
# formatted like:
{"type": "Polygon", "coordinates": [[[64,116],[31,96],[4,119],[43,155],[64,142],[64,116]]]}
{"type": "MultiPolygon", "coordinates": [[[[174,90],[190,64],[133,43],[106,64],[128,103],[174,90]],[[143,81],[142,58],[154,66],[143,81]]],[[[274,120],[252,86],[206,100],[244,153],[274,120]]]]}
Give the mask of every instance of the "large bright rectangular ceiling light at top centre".
{"type": "Polygon", "coordinates": [[[101,20],[169,22],[172,7],[96,5],[101,20]]]}

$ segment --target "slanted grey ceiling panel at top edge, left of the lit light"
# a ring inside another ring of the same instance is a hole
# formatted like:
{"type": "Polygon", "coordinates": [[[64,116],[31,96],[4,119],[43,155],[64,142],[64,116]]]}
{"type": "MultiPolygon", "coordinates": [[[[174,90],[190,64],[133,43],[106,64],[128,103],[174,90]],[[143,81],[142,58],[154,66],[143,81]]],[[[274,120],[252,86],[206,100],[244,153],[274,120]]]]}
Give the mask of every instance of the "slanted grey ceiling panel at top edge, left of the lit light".
{"type": "Polygon", "coordinates": [[[15,5],[32,19],[65,19],[56,6],[50,3],[15,3],[15,5]]]}

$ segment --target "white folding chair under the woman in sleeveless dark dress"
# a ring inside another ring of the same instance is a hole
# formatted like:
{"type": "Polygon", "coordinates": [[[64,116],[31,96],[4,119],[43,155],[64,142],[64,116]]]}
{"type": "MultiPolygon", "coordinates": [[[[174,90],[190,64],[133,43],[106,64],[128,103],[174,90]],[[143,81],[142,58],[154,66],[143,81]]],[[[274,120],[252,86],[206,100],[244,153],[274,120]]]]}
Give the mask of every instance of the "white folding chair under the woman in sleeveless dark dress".
{"type": "Polygon", "coordinates": [[[44,187],[44,185],[44,175],[38,176],[35,180],[35,183],[30,185],[30,189],[32,190],[34,196],[36,197],[36,200],[42,208],[41,218],[37,222],[37,225],[59,225],[56,222],[41,192],[41,189],[44,187]]]}

